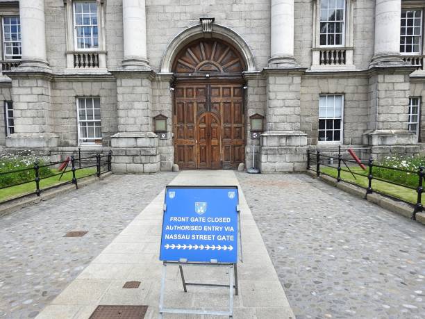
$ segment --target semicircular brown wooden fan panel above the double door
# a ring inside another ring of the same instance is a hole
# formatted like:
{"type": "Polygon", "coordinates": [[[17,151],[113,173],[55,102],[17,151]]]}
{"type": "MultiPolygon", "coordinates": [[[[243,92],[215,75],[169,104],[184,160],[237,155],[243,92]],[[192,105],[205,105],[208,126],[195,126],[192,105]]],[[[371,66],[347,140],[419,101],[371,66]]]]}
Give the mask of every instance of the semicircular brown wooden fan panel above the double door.
{"type": "Polygon", "coordinates": [[[186,45],[174,59],[175,74],[242,74],[246,69],[238,50],[215,38],[199,39],[186,45]]]}

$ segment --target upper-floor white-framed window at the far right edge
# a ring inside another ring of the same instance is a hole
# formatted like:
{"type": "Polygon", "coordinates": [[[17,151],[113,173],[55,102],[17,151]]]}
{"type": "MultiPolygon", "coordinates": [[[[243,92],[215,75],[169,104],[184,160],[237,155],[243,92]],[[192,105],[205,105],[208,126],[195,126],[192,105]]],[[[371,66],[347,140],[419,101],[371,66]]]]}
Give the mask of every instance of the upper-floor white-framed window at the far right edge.
{"type": "Polygon", "coordinates": [[[400,52],[420,54],[422,43],[422,10],[401,10],[400,52]]]}

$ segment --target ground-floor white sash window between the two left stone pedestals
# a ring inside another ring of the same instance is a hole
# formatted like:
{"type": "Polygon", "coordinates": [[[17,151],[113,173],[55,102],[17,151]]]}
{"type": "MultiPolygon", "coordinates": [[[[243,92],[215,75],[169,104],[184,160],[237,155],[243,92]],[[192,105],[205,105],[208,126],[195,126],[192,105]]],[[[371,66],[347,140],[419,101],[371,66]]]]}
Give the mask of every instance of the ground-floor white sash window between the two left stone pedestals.
{"type": "Polygon", "coordinates": [[[99,97],[78,97],[78,142],[101,144],[101,114],[99,97]]]}

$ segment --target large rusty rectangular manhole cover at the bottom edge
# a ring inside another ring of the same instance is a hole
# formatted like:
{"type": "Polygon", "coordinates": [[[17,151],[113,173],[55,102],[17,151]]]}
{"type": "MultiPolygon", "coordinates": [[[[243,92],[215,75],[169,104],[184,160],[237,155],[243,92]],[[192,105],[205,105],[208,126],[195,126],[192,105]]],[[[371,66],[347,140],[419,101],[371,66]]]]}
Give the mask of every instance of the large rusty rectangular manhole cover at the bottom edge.
{"type": "Polygon", "coordinates": [[[143,319],[148,306],[97,306],[89,319],[143,319]]]}

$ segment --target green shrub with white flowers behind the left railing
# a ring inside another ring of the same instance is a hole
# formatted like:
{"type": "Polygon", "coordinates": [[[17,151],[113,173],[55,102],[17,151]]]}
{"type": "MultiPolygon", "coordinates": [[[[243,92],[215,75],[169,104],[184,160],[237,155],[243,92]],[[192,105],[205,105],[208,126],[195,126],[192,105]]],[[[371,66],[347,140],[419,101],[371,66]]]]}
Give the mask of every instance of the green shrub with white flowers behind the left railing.
{"type": "MultiPolygon", "coordinates": [[[[24,181],[33,181],[35,179],[35,170],[26,170],[11,174],[1,173],[34,167],[35,162],[37,162],[40,166],[49,163],[46,158],[37,156],[32,152],[22,152],[20,154],[0,154],[0,187],[23,183],[24,181]]],[[[51,175],[52,171],[50,167],[40,167],[39,173],[40,178],[42,178],[51,175]]]]}

